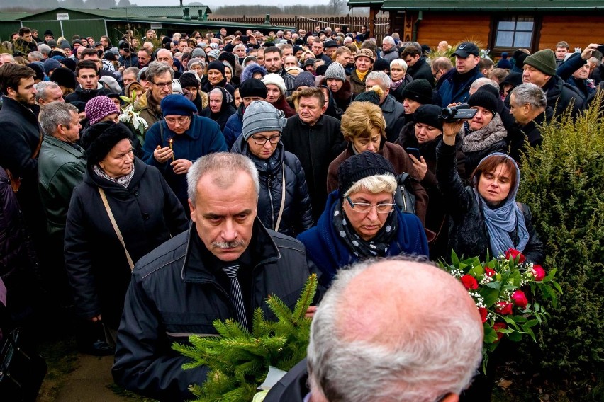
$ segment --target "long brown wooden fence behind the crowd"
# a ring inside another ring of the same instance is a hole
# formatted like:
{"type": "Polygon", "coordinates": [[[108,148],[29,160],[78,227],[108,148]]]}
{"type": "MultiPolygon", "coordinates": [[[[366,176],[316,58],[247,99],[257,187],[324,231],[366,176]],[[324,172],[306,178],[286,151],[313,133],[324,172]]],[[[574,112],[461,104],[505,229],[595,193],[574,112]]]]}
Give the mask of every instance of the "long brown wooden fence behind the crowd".
{"type": "MultiPolygon", "coordinates": [[[[264,17],[213,17],[212,21],[230,21],[233,23],[249,23],[259,24],[264,23],[264,17]]],[[[373,36],[381,44],[382,38],[388,35],[390,30],[388,17],[377,17],[375,18],[375,32],[373,36]]],[[[313,32],[315,26],[320,25],[321,28],[327,26],[332,29],[335,27],[341,27],[347,25],[349,32],[361,31],[363,25],[369,27],[369,17],[357,17],[357,16],[338,16],[338,17],[271,17],[271,25],[282,25],[282,26],[295,26],[296,30],[306,30],[307,32],[313,32]]]]}

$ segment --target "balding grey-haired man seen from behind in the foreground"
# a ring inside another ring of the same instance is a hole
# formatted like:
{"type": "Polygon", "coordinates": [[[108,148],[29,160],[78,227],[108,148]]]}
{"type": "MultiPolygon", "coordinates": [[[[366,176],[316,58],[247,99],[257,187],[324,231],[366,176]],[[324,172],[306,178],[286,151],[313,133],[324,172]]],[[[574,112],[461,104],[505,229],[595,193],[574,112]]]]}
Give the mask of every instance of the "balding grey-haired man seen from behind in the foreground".
{"type": "Polygon", "coordinates": [[[313,318],[308,361],[264,401],[454,402],[477,373],[482,340],[459,280],[430,263],[367,260],[339,272],[313,318]]]}

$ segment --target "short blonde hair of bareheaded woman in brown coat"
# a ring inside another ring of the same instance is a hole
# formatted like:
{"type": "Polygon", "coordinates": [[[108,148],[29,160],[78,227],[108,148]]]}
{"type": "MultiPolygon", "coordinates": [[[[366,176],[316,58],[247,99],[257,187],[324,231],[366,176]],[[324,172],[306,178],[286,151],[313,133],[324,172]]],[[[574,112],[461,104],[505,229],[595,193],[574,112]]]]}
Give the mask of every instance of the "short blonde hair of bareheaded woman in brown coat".
{"type": "Polygon", "coordinates": [[[374,128],[379,129],[382,137],[386,137],[386,120],[379,106],[371,102],[350,103],[342,115],[340,126],[344,139],[352,142],[354,138],[368,138],[374,128]]]}

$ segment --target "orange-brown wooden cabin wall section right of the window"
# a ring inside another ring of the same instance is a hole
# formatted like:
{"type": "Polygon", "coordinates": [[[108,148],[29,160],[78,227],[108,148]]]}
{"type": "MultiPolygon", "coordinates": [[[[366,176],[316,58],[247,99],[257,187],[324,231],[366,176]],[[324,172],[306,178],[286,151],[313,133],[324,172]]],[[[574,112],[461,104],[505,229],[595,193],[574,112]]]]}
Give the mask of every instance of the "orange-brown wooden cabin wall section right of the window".
{"type": "Polygon", "coordinates": [[[543,16],[539,36],[539,50],[556,50],[561,40],[569,42],[571,52],[575,47],[584,49],[590,43],[604,43],[604,16],[579,14],[543,16]]]}

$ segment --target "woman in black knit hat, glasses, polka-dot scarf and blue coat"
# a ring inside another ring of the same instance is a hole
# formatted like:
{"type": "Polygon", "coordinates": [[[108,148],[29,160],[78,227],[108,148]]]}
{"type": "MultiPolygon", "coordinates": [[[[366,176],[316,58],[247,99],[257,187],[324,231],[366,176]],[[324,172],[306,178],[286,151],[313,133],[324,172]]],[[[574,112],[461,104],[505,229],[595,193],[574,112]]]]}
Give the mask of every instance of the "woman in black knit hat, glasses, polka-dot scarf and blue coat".
{"type": "Polygon", "coordinates": [[[308,258],[323,272],[323,285],[330,284],[338,269],[358,260],[427,256],[420,219],[394,203],[395,176],[392,163],[370,151],[350,156],[337,169],[339,184],[317,226],[298,235],[308,258]]]}

